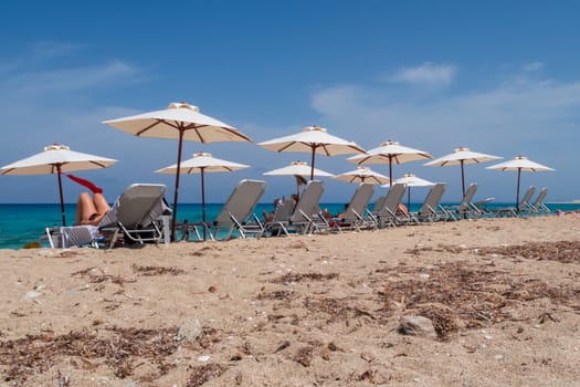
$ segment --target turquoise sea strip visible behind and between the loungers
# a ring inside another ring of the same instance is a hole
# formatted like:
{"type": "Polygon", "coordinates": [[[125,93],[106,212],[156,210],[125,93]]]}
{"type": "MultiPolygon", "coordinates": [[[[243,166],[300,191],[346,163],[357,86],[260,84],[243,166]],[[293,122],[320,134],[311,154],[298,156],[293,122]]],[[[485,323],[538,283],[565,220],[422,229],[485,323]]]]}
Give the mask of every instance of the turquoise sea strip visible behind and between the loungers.
{"type": "MultiPolygon", "coordinates": [[[[456,205],[456,203],[449,203],[456,205]]],[[[339,213],[344,209],[344,203],[320,203],[320,208],[328,208],[330,213],[339,213]]],[[[418,211],[421,203],[411,203],[411,211],[418,211]]],[[[513,207],[514,203],[489,203],[489,209],[513,207]]],[[[552,211],[578,211],[580,203],[546,203],[552,211]]],[[[223,203],[207,203],[205,219],[211,220],[218,216],[223,203]]],[[[272,211],[272,203],[259,203],[254,210],[261,215],[262,210],[272,211]]],[[[202,220],[201,205],[180,203],[178,206],[178,221],[188,220],[199,222],[202,220]]],[[[65,216],[67,224],[74,223],[75,205],[65,205],[65,216]]],[[[61,206],[38,203],[38,205],[2,205],[0,203],[0,249],[22,249],[40,242],[41,236],[46,228],[61,226],[61,206]]],[[[44,243],[45,245],[45,243],[44,243]]]]}

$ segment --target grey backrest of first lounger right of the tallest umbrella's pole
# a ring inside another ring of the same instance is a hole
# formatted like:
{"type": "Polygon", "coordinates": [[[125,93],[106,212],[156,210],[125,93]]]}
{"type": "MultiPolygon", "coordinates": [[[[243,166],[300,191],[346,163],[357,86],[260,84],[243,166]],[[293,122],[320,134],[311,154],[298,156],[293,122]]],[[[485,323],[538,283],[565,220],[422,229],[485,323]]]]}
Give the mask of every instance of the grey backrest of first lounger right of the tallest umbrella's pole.
{"type": "Polygon", "coordinates": [[[215,226],[233,224],[233,219],[240,223],[245,222],[252,216],[257,201],[266,191],[266,182],[262,180],[241,180],[213,223],[215,226]]]}

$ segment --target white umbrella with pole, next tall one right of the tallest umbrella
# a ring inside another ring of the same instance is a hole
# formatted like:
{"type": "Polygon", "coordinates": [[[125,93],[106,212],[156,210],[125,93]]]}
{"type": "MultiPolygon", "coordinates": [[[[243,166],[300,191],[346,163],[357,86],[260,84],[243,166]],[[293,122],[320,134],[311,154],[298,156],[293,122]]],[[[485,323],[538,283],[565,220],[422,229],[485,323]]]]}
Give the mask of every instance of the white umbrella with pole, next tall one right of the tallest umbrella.
{"type": "Polygon", "coordinates": [[[274,151],[298,151],[312,154],[310,180],[314,179],[315,155],[339,156],[363,154],[365,150],[356,143],[329,135],[326,128],[319,126],[307,126],[295,135],[280,137],[267,142],[259,143],[274,151]]]}

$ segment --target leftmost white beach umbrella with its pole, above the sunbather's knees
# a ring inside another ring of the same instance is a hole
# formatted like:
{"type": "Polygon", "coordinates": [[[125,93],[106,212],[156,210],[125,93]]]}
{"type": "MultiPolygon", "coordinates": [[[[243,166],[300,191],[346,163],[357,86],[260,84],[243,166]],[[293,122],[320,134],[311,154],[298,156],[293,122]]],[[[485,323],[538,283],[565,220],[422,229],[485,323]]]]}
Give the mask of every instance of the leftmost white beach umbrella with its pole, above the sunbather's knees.
{"type": "Polygon", "coordinates": [[[64,198],[62,189],[62,172],[106,168],[117,163],[112,158],[83,154],[71,150],[66,145],[53,144],[44,147],[44,151],[24,158],[20,161],[0,168],[0,175],[57,175],[59,196],[63,226],[66,226],[64,215],[64,198]]]}

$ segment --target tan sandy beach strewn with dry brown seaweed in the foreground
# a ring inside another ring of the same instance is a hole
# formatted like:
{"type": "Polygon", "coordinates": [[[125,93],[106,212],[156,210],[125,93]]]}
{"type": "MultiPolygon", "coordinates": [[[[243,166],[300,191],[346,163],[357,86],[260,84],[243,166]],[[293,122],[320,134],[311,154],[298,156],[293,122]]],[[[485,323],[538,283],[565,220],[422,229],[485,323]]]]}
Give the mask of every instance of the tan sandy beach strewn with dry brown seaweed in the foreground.
{"type": "Polygon", "coordinates": [[[0,273],[0,385],[580,384],[580,215],[1,250],[0,273]]]}

